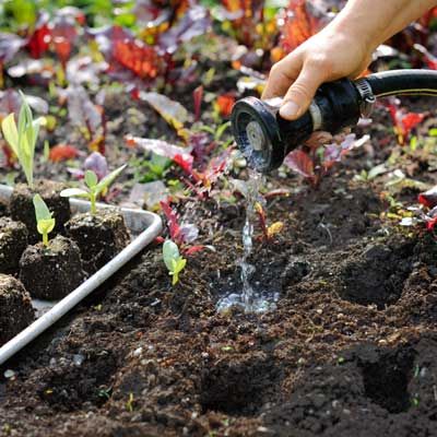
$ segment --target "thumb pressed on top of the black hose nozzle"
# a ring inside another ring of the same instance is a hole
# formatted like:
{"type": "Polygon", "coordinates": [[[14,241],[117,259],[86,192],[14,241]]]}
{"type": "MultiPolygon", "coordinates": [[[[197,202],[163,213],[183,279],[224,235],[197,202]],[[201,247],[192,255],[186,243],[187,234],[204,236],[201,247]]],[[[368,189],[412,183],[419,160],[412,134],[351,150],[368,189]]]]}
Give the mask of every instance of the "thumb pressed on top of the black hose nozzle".
{"type": "Polygon", "coordinates": [[[304,66],[300,74],[288,88],[280,115],[286,120],[299,118],[309,107],[317,88],[323,83],[323,72],[304,66]]]}

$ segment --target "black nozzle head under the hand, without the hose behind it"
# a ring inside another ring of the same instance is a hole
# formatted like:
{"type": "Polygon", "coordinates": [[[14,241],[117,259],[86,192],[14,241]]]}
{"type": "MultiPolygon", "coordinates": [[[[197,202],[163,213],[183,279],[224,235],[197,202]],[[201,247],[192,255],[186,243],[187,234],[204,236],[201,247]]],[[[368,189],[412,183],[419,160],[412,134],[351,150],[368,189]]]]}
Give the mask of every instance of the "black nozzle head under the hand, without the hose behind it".
{"type": "Polygon", "coordinates": [[[338,133],[357,123],[363,97],[354,82],[342,79],[318,90],[309,109],[297,120],[279,114],[282,99],[246,97],[236,102],[231,116],[235,140],[248,165],[269,173],[317,130],[338,133]]]}

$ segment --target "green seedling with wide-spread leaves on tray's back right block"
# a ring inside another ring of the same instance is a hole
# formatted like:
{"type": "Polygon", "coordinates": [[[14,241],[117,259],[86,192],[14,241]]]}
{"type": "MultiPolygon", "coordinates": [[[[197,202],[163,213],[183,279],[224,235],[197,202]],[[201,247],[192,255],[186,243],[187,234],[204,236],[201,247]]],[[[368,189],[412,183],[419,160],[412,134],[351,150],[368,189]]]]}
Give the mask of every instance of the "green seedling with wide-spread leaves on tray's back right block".
{"type": "Polygon", "coordinates": [[[94,215],[97,211],[97,198],[117,179],[125,168],[126,164],[109,173],[101,181],[98,181],[97,175],[94,172],[86,170],[84,177],[86,188],[67,188],[61,191],[60,196],[62,198],[84,198],[90,200],[91,213],[94,215]]]}

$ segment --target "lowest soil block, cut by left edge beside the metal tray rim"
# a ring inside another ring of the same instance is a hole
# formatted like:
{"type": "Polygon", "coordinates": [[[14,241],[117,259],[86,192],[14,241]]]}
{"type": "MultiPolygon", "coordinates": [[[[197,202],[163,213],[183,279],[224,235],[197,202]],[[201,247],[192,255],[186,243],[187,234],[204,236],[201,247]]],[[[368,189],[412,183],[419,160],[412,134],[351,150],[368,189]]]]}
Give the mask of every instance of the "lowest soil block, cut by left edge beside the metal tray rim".
{"type": "Polygon", "coordinates": [[[0,346],[34,320],[31,296],[15,277],[0,273],[0,346]]]}

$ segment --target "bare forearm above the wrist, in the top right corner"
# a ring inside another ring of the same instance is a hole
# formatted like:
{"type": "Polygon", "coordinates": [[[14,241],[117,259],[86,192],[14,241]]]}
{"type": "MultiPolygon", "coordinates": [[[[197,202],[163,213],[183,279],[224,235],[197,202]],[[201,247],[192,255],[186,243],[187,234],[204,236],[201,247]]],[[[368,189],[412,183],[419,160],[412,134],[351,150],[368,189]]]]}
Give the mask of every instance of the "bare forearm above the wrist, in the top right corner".
{"type": "Polygon", "coordinates": [[[349,0],[329,26],[375,49],[435,5],[437,0],[349,0]]]}

